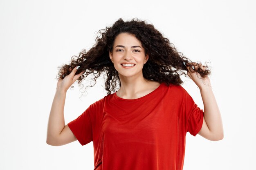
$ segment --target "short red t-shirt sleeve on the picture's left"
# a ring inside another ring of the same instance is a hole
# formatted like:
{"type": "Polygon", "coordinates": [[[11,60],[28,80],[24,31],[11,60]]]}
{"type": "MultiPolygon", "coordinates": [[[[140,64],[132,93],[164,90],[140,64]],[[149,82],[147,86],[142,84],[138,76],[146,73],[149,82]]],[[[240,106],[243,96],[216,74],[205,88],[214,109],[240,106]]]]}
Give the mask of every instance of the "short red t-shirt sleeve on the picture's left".
{"type": "Polygon", "coordinates": [[[67,124],[82,146],[92,141],[92,121],[90,119],[92,111],[92,105],[90,105],[79,117],[67,124]]]}

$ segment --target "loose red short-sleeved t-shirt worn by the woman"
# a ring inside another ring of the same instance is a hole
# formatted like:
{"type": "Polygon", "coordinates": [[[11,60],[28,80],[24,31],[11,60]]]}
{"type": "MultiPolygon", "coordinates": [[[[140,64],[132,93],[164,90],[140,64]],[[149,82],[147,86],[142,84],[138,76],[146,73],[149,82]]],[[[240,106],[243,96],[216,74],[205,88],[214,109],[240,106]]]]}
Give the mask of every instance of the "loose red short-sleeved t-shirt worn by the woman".
{"type": "Polygon", "coordinates": [[[162,83],[137,99],[106,95],[68,126],[82,146],[93,141],[94,170],[182,170],[186,132],[203,116],[182,86],[162,83]]]}

